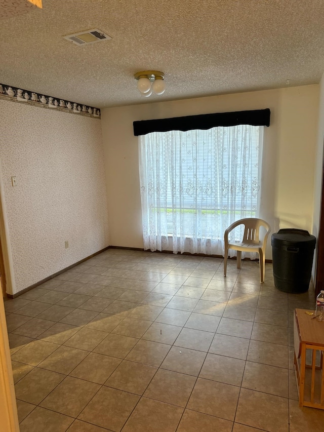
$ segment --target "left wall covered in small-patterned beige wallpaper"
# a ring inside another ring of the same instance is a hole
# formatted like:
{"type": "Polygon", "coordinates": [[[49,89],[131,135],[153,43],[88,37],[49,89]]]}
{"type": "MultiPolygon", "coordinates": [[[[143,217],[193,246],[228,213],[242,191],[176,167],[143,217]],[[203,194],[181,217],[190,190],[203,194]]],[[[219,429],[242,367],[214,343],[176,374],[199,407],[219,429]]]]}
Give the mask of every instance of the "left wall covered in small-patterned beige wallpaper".
{"type": "Polygon", "coordinates": [[[0,100],[0,125],[18,292],[109,245],[101,122],[0,100]]]}

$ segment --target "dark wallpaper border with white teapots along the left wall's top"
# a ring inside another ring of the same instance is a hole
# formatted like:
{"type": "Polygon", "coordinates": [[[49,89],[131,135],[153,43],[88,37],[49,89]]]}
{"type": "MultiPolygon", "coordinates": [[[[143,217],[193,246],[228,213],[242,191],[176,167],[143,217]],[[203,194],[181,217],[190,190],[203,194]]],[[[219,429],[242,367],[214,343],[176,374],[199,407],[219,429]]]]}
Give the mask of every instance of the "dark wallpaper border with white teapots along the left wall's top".
{"type": "Polygon", "coordinates": [[[7,86],[6,84],[0,84],[0,99],[100,119],[99,108],[82,105],[65,99],[58,99],[52,96],[43,95],[42,93],[19,89],[18,87],[7,86]]]}

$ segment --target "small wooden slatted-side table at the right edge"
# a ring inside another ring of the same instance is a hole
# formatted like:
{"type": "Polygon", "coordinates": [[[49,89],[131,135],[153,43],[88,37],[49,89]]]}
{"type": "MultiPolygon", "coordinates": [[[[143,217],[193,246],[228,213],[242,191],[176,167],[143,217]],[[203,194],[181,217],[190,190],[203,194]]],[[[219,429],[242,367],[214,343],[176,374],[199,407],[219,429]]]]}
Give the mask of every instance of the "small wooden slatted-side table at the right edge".
{"type": "Polygon", "coordinates": [[[313,310],[295,309],[294,368],[299,406],[324,409],[324,322],[313,317],[313,310]]]}

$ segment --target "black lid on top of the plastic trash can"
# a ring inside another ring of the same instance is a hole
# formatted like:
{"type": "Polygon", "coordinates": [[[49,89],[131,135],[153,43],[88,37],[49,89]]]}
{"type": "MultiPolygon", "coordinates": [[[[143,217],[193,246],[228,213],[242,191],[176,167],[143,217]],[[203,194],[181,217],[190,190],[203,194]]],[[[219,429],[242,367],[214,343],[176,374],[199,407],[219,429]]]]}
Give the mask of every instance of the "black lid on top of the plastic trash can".
{"type": "Polygon", "coordinates": [[[271,236],[272,246],[294,246],[315,248],[316,237],[305,229],[284,228],[279,229],[271,236]]]}

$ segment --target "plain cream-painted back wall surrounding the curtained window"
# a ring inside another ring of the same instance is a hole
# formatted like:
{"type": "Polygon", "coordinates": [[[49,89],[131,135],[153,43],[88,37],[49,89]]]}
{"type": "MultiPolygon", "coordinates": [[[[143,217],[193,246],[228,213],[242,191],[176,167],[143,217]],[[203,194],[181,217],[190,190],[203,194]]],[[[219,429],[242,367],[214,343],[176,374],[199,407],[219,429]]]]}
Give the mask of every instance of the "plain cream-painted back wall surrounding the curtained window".
{"type": "Polygon", "coordinates": [[[110,245],[143,248],[134,121],[247,109],[271,110],[264,132],[260,216],[273,232],[286,227],[311,232],[318,90],[311,85],[103,109],[110,245]]]}

